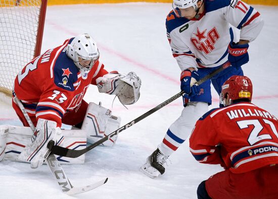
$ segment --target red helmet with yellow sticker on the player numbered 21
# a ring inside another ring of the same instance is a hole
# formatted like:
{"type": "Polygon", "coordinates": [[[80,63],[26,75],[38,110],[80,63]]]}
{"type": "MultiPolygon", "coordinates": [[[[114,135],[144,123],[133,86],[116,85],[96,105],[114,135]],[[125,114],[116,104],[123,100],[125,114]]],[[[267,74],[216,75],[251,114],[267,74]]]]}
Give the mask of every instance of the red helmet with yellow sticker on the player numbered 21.
{"type": "Polygon", "coordinates": [[[229,103],[241,98],[247,98],[251,102],[252,92],[253,85],[248,77],[234,75],[228,78],[222,85],[221,100],[224,102],[226,94],[229,94],[229,103]]]}

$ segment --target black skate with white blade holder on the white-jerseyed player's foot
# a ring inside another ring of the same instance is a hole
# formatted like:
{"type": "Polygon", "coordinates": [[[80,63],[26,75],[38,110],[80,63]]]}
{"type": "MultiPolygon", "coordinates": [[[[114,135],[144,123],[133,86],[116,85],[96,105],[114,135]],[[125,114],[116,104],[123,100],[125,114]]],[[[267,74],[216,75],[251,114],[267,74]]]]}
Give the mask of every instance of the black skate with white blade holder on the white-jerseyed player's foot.
{"type": "Polygon", "coordinates": [[[141,171],[151,178],[162,175],[165,172],[164,164],[168,156],[164,156],[159,149],[147,158],[147,162],[141,167],[141,171]]]}

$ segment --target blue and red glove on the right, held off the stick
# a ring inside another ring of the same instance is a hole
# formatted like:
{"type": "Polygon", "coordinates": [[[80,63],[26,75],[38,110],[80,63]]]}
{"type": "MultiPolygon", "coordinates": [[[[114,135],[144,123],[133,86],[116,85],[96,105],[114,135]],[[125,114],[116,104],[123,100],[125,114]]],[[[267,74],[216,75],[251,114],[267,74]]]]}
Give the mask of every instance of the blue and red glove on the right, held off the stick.
{"type": "Polygon", "coordinates": [[[230,42],[228,46],[228,61],[232,66],[241,67],[249,61],[247,49],[249,44],[239,45],[235,42],[230,42]]]}

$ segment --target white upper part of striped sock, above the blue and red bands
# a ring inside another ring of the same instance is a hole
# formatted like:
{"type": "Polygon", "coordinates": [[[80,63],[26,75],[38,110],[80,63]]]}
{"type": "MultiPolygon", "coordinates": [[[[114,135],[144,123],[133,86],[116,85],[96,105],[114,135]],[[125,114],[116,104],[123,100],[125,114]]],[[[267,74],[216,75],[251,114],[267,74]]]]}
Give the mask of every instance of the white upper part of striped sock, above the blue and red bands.
{"type": "Polygon", "coordinates": [[[169,127],[170,131],[181,139],[187,139],[197,120],[207,111],[207,103],[188,103],[188,105],[182,110],[179,118],[169,127]]]}

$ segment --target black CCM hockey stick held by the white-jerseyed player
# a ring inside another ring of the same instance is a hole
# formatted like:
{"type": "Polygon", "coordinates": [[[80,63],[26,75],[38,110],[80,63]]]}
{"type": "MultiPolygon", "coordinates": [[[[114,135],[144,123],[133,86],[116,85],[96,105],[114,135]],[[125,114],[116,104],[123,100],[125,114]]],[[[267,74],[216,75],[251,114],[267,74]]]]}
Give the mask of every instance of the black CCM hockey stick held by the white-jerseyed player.
{"type": "MultiPolygon", "coordinates": [[[[221,71],[223,71],[225,68],[227,68],[229,66],[230,66],[229,62],[223,64],[222,66],[220,66],[218,69],[216,69],[212,73],[210,73],[207,76],[205,76],[202,79],[200,79],[197,82],[197,84],[200,85],[200,84],[204,83],[205,81],[207,81],[208,79],[212,78],[214,75],[220,73],[221,71]]],[[[161,103],[157,107],[155,107],[155,108],[151,109],[150,111],[148,111],[147,113],[137,117],[135,120],[132,120],[131,122],[127,123],[126,125],[124,125],[122,127],[120,127],[119,129],[117,129],[114,132],[110,133],[106,137],[103,137],[99,141],[97,141],[97,142],[87,146],[86,148],[83,148],[82,150],[71,150],[69,148],[64,148],[64,147],[55,145],[52,148],[52,153],[55,154],[55,155],[58,155],[58,156],[64,156],[64,157],[68,157],[68,158],[77,158],[77,157],[85,154],[86,152],[90,151],[92,148],[95,148],[96,146],[102,144],[103,142],[105,142],[106,140],[110,139],[114,135],[119,134],[121,131],[123,131],[123,130],[129,128],[130,126],[136,124],[137,122],[143,120],[144,118],[146,118],[149,115],[153,114],[154,112],[158,111],[162,107],[165,107],[166,105],[168,105],[169,103],[173,102],[178,97],[180,97],[183,93],[184,93],[184,91],[180,91],[179,93],[175,94],[174,96],[172,96],[171,98],[169,98],[165,102],[161,103]]]]}

